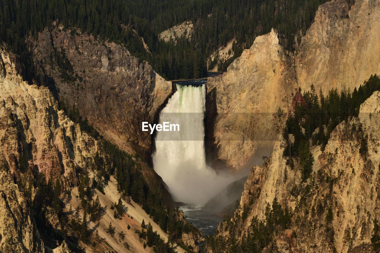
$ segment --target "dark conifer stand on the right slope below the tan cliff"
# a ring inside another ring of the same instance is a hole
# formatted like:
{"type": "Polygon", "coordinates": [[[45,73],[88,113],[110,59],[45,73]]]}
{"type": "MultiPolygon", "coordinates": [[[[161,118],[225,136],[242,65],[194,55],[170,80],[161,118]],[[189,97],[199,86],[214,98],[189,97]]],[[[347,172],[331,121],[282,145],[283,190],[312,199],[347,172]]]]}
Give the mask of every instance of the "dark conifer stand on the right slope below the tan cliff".
{"type": "MultiPolygon", "coordinates": [[[[337,89],[331,89],[326,97],[322,91],[318,96],[312,85],[311,91],[303,93],[304,101],[296,104],[294,115],[289,115],[283,129],[283,136],[288,142],[284,155],[290,158],[299,157],[303,180],[308,179],[312,172],[313,157],[310,144],[321,145],[323,151],[332,130],[340,122],[347,122],[349,117],[358,117],[360,105],[376,90],[380,90],[380,78],[375,74],[352,92],[348,89],[339,94],[337,89]],[[289,134],[293,134],[293,141],[289,140],[289,134]]],[[[360,126],[353,126],[351,133],[357,130],[361,131],[360,126]]],[[[362,136],[360,141],[360,152],[364,154],[367,152],[367,136],[362,136]]]]}

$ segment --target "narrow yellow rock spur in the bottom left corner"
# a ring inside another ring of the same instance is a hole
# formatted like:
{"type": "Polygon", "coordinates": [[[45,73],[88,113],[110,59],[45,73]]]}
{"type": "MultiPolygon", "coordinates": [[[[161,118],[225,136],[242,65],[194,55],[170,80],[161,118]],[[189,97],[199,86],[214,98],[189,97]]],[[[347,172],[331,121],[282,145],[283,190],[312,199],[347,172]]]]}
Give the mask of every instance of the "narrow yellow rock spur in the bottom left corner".
{"type": "Polygon", "coordinates": [[[45,252],[26,198],[13,183],[4,158],[0,158],[0,251],[45,252]]]}

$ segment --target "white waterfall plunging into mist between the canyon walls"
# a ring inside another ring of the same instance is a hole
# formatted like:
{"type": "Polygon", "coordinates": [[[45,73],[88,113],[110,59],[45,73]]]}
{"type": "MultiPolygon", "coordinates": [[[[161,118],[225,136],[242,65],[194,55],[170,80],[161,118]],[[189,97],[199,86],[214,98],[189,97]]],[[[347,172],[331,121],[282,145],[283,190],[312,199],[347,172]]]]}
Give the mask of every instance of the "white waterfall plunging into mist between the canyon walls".
{"type": "Polygon", "coordinates": [[[175,201],[202,206],[232,180],[206,165],[204,150],[205,87],[178,85],[160,112],[160,124],[180,125],[180,131],[158,131],[154,170],[175,201]]]}

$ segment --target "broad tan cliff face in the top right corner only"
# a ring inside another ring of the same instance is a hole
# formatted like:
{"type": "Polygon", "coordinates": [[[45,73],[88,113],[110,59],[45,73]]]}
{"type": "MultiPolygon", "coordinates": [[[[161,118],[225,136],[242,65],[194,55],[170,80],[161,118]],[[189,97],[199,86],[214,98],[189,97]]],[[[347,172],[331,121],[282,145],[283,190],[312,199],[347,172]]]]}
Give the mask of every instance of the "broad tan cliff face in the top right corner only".
{"type": "Polygon", "coordinates": [[[299,86],[324,93],[359,87],[371,74],[380,73],[380,1],[345,0],[318,8],[313,24],[302,38],[296,57],[299,86]]]}

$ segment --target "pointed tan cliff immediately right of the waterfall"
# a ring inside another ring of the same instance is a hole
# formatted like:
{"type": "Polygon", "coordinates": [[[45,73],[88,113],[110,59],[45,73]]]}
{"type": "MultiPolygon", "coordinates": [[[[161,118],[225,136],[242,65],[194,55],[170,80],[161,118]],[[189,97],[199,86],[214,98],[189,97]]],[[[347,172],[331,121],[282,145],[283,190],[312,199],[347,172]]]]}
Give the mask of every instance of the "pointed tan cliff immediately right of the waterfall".
{"type": "Polygon", "coordinates": [[[216,104],[217,157],[231,168],[241,169],[258,147],[273,145],[277,110],[286,107],[282,98],[296,89],[290,62],[272,30],[258,36],[225,74],[207,80],[207,93],[216,98],[206,100],[206,107],[216,104]]]}

